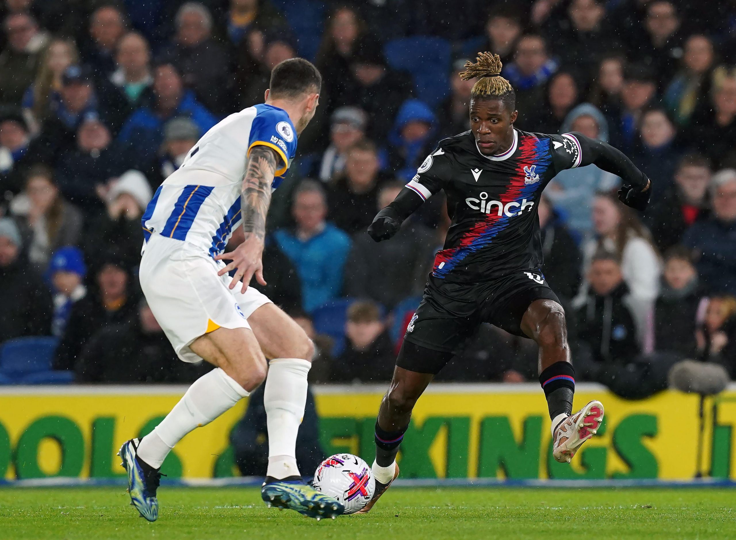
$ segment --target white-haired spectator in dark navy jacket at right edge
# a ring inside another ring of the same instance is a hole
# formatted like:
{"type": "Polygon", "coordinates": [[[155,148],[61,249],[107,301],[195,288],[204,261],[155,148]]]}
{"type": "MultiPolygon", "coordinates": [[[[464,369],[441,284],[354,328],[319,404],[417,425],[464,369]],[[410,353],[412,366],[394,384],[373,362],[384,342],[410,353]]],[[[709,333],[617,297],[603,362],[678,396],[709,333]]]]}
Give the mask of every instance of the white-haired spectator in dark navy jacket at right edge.
{"type": "Polygon", "coordinates": [[[695,251],[696,267],[710,292],[736,295],[736,169],[724,169],[711,180],[713,214],[696,222],[683,243],[695,251]]]}

